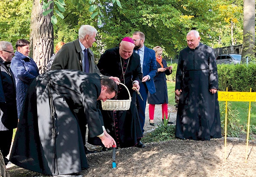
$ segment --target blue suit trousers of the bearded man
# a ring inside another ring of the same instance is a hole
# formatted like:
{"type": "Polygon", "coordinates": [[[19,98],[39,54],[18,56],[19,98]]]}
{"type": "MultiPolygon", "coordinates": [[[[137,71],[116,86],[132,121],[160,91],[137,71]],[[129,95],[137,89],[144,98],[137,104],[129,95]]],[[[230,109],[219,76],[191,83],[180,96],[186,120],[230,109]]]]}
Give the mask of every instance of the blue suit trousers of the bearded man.
{"type": "Polygon", "coordinates": [[[140,96],[137,95],[137,109],[139,113],[140,129],[142,133],[144,133],[145,109],[148,99],[148,88],[145,83],[140,84],[140,94],[143,100],[141,100],[140,96]]]}

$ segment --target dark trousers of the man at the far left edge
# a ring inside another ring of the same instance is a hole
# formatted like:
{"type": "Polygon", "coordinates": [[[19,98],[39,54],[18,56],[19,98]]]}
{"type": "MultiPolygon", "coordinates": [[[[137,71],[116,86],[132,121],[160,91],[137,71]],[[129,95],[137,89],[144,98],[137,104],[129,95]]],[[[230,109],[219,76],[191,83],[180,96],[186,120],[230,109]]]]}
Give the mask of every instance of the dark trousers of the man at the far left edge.
{"type": "Polygon", "coordinates": [[[13,129],[0,131],[0,150],[3,154],[3,157],[6,157],[10,152],[10,148],[12,145],[12,134],[13,129]]]}

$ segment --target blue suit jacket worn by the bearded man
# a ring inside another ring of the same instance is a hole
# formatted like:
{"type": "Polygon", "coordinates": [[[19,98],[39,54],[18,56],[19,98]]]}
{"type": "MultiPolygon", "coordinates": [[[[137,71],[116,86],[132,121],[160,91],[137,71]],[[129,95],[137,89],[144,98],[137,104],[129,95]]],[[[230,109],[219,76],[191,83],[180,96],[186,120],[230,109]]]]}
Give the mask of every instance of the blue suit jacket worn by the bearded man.
{"type": "Polygon", "coordinates": [[[148,49],[145,46],[144,50],[144,58],[143,58],[143,77],[146,75],[150,76],[150,80],[146,81],[146,86],[148,88],[149,93],[154,94],[156,92],[156,88],[154,85],[154,76],[157,74],[157,61],[155,51],[152,49],[148,49]]]}

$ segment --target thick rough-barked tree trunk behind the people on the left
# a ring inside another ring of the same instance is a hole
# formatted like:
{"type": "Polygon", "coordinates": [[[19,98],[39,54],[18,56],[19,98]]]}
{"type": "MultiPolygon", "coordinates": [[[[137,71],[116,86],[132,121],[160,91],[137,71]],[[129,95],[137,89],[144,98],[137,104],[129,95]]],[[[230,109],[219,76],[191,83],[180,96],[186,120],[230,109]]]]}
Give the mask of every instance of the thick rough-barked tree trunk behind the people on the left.
{"type": "MultiPolygon", "coordinates": [[[[44,11],[42,5],[43,3],[40,3],[40,0],[33,0],[30,26],[30,56],[32,56],[37,63],[40,73],[46,71],[46,66],[53,53],[54,47],[53,25],[51,23],[53,11],[47,16],[44,16],[42,14],[44,11]]],[[[53,3],[50,4],[48,9],[53,9],[53,3]]]]}

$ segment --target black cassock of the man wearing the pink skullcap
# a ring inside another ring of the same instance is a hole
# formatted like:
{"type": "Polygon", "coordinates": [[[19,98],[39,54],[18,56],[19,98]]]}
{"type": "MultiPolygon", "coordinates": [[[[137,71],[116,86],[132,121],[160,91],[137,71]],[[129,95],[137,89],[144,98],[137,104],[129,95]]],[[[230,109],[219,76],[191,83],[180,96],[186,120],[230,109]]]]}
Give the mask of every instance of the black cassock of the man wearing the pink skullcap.
{"type": "MultiPolygon", "coordinates": [[[[133,52],[130,59],[123,60],[119,54],[119,47],[116,47],[105,51],[97,66],[103,75],[118,77],[121,83],[125,83],[132,97],[130,109],[127,111],[102,111],[105,128],[110,131],[109,134],[116,140],[118,147],[135,146],[137,138],[143,137],[138,120],[136,92],[132,90],[133,81],[137,80],[140,83],[143,76],[140,56],[133,52]],[[122,72],[125,72],[124,77],[122,72]]],[[[128,91],[121,84],[118,86],[116,99],[129,99],[128,91]]]]}

